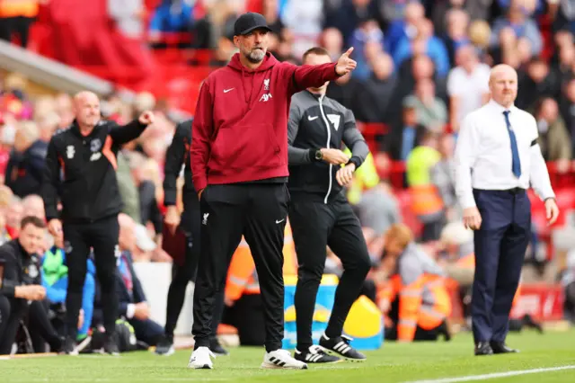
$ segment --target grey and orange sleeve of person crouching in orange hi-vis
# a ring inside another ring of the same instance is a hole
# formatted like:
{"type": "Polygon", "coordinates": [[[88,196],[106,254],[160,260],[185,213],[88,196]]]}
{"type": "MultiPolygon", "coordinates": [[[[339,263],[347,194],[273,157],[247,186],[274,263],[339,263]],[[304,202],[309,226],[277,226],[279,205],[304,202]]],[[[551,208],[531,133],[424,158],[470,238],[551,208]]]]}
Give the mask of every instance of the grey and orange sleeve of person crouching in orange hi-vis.
{"type": "Polygon", "coordinates": [[[399,322],[397,324],[397,339],[412,341],[417,328],[418,313],[421,306],[422,271],[417,258],[409,257],[400,260],[400,276],[402,289],[399,293],[399,322]]]}

